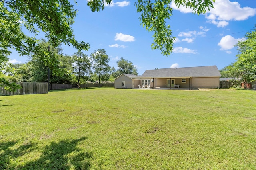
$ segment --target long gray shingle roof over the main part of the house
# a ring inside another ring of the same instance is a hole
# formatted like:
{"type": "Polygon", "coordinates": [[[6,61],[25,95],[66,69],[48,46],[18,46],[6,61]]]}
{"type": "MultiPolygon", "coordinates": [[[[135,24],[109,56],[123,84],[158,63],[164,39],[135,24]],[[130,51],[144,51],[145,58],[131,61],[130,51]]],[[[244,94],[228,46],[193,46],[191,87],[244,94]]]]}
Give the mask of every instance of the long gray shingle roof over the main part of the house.
{"type": "Polygon", "coordinates": [[[184,68],[162,68],[157,70],[146,70],[144,78],[186,78],[186,77],[220,77],[217,66],[200,66],[184,68]]]}

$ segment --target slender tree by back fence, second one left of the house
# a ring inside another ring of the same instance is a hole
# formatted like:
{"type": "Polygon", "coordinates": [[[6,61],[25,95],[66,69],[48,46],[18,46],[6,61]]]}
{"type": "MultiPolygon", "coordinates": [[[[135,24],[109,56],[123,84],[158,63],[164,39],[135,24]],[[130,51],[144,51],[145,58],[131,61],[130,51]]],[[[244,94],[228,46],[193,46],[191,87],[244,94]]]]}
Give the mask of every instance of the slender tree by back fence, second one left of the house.
{"type": "Polygon", "coordinates": [[[78,85],[80,84],[81,78],[91,72],[91,62],[88,56],[81,51],[78,51],[72,55],[74,63],[74,73],[77,76],[78,85]]]}

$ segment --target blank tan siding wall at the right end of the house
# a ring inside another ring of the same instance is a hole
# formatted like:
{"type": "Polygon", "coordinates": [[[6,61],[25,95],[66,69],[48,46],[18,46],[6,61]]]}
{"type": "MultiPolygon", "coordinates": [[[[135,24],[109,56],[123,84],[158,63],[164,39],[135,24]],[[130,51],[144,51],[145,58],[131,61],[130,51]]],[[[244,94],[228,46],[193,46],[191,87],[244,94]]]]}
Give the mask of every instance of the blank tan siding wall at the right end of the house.
{"type": "Polygon", "coordinates": [[[198,77],[191,78],[192,88],[219,88],[220,78],[219,77],[198,77]]]}

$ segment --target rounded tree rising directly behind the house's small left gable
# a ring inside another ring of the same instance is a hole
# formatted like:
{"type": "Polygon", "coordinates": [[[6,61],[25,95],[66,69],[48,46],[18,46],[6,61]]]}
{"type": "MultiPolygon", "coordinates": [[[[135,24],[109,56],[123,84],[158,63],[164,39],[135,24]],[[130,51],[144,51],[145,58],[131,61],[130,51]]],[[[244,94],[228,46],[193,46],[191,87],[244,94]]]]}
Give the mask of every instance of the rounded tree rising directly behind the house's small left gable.
{"type": "Polygon", "coordinates": [[[133,63],[131,61],[128,61],[126,59],[124,59],[123,57],[121,57],[120,60],[118,60],[117,62],[117,66],[118,66],[118,75],[121,75],[123,73],[126,74],[134,74],[134,75],[138,75],[138,71],[137,68],[132,65],[133,63]]]}

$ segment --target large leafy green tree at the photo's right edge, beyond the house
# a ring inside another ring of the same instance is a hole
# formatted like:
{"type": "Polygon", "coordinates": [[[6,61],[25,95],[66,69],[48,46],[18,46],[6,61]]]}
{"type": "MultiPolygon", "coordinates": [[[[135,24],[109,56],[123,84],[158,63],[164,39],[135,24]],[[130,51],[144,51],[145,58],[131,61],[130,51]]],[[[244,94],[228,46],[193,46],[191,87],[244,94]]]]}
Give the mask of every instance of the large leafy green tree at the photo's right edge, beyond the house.
{"type": "Polygon", "coordinates": [[[246,33],[245,38],[235,45],[238,58],[234,63],[234,74],[241,78],[242,82],[249,83],[256,80],[256,26],[246,33]]]}

